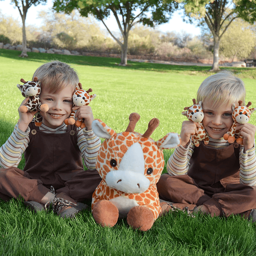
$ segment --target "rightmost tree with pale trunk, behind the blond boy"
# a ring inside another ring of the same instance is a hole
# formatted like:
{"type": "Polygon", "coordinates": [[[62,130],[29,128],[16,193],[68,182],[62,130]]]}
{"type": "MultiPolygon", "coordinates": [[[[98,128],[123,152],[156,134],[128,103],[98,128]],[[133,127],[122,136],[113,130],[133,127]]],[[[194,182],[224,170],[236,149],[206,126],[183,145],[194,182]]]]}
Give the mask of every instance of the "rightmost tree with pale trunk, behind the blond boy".
{"type": "Polygon", "coordinates": [[[214,38],[212,70],[219,69],[220,40],[236,18],[250,23],[256,20],[256,0],[177,0],[182,3],[190,21],[206,24],[214,38]]]}

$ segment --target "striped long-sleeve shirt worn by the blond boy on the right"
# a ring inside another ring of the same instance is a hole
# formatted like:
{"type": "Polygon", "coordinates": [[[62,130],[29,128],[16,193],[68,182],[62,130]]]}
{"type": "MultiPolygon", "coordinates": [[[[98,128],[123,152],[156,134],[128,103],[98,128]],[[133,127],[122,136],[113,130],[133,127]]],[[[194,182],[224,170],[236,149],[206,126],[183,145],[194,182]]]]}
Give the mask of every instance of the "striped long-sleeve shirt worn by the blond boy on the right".
{"type": "MultiPolygon", "coordinates": [[[[223,138],[220,140],[215,140],[210,138],[208,147],[211,148],[225,148],[230,144],[223,138]]],[[[189,161],[194,152],[194,144],[188,144],[187,148],[178,146],[175,148],[173,154],[170,156],[167,162],[167,171],[171,176],[183,175],[188,173],[189,161]]],[[[239,162],[240,162],[240,183],[249,186],[254,186],[256,184],[256,154],[255,146],[244,152],[244,146],[240,147],[239,152],[239,162]]]]}

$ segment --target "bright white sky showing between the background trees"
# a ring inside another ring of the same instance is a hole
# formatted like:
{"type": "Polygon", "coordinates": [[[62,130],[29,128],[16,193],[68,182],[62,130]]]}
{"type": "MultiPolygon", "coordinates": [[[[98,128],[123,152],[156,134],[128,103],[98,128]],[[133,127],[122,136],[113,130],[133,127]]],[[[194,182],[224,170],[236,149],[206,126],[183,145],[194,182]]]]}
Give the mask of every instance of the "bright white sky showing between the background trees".
{"type": "MultiPolygon", "coordinates": [[[[28,25],[35,25],[40,26],[40,18],[37,17],[38,12],[41,10],[48,10],[52,7],[52,0],[48,0],[46,5],[39,4],[38,6],[31,6],[28,9],[28,14],[26,17],[26,26],[28,25]]],[[[3,0],[0,1],[0,10],[5,16],[12,16],[14,18],[18,18],[20,23],[22,22],[20,14],[18,12],[18,8],[15,7],[14,4],[11,4],[10,0],[3,0]]],[[[111,16],[106,20],[106,24],[108,27],[112,28],[111,30],[114,32],[118,32],[118,26],[116,24],[114,16],[111,16]]],[[[100,26],[105,29],[102,22],[100,22],[100,26]]],[[[172,14],[172,18],[168,23],[162,24],[157,27],[158,30],[162,32],[188,32],[192,34],[193,36],[200,35],[200,28],[194,26],[193,24],[189,24],[186,22],[183,22],[182,20],[182,14],[179,13],[179,11],[174,12],[172,14]]]]}

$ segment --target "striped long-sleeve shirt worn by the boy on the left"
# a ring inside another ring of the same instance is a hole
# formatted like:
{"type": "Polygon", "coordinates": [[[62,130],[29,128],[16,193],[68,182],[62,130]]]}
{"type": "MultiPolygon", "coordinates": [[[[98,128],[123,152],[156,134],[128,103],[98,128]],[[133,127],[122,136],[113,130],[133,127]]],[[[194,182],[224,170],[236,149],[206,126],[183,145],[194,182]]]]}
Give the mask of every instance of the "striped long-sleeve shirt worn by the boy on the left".
{"type": "MultiPolygon", "coordinates": [[[[67,126],[62,124],[56,129],[51,129],[44,124],[40,126],[40,130],[45,133],[63,134],[67,130],[67,126]]],[[[23,132],[18,128],[18,124],[14,126],[14,131],[8,140],[0,148],[0,166],[2,168],[17,167],[22,158],[22,154],[29,144],[30,128],[23,132]]],[[[96,158],[100,149],[101,141],[92,130],[86,131],[78,128],[77,145],[84,158],[84,164],[88,169],[94,169],[96,158]]]]}

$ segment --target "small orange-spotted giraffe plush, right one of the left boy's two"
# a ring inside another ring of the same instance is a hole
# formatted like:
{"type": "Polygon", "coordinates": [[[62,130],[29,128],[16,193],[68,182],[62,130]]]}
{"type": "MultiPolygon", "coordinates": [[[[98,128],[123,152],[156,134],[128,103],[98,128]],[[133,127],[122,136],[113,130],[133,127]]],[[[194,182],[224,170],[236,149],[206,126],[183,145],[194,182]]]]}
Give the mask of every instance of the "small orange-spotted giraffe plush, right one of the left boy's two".
{"type": "MultiPolygon", "coordinates": [[[[90,95],[89,92],[92,92],[92,89],[88,89],[87,91],[82,89],[82,84],[78,83],[78,86],[76,86],[75,92],[73,94],[73,103],[74,106],[84,106],[84,105],[89,105],[91,100],[93,100],[96,97],[96,94],[90,95]]],[[[76,115],[77,110],[72,110],[70,117],[67,118],[64,122],[66,125],[69,124],[75,124],[75,126],[84,128],[84,120],[75,120],[75,115],[76,115]]]]}

